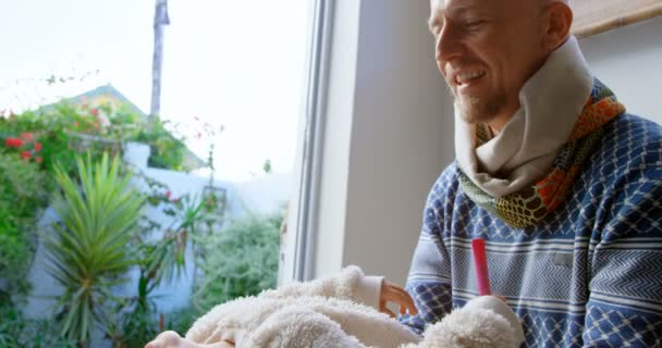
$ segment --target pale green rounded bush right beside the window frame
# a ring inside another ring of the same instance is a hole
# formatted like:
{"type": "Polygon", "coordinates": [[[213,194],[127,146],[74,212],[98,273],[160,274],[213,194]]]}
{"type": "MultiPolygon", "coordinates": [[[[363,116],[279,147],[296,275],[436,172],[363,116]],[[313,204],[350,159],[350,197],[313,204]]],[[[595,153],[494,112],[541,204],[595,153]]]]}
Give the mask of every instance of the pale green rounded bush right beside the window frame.
{"type": "Polygon", "coordinates": [[[203,276],[192,296],[197,311],[275,286],[282,216],[246,215],[197,241],[206,256],[198,260],[203,276]]]}

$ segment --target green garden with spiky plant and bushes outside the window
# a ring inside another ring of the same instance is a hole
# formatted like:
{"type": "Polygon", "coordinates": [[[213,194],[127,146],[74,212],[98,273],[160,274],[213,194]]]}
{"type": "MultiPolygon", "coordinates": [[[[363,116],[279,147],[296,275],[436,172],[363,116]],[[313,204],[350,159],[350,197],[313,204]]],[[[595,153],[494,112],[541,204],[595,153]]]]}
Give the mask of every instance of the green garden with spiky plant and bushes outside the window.
{"type": "Polygon", "coordinates": [[[0,347],[143,347],[164,330],[184,334],[214,304],[275,286],[282,210],[231,216],[217,190],[175,198],[123,160],[139,142],[150,167],[186,171],[184,139],[171,126],[111,105],[0,111],[0,347]],[[47,210],[58,219],[45,226],[47,210]],[[62,290],[41,318],[28,318],[39,246],[62,290]],[[188,306],[164,311],[156,289],[186,270],[188,306]],[[130,294],[118,290],[134,283],[130,294]]]}

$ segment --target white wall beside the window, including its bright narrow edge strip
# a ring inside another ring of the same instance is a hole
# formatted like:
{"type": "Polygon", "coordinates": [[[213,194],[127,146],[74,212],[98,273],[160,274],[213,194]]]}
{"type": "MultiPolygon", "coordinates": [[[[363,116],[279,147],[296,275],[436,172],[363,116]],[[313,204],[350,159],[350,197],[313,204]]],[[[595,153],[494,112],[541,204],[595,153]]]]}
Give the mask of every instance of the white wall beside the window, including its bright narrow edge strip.
{"type": "Polygon", "coordinates": [[[327,129],[335,135],[324,141],[314,276],[359,264],[404,283],[426,196],[453,158],[452,103],[427,32],[429,4],[336,3],[333,40],[345,42],[330,72],[327,129]],[[338,167],[345,159],[346,174],[338,167]]]}

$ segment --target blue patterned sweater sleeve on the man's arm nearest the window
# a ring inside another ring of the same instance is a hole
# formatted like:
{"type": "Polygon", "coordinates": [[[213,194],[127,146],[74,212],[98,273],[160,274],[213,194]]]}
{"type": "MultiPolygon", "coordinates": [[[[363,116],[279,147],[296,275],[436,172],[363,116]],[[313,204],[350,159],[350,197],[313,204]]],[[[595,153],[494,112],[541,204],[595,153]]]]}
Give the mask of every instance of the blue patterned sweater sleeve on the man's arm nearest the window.
{"type": "Polygon", "coordinates": [[[418,314],[402,315],[400,321],[418,334],[427,324],[438,322],[452,309],[451,263],[441,236],[443,197],[449,179],[446,171],[428,195],[422,228],[405,287],[414,299],[418,314]]]}

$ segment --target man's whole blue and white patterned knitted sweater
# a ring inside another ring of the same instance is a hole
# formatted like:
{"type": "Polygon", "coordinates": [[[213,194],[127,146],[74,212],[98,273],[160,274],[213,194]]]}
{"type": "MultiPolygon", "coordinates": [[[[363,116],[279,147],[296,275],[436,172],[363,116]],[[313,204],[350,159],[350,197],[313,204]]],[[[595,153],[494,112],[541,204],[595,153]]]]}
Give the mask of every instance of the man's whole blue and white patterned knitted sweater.
{"type": "Polygon", "coordinates": [[[492,293],[526,347],[662,347],[662,127],[623,114],[563,206],[514,228],[475,204],[457,163],[434,184],[406,289],[421,332],[478,295],[470,239],[485,238],[492,293]]]}

